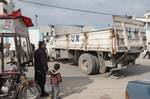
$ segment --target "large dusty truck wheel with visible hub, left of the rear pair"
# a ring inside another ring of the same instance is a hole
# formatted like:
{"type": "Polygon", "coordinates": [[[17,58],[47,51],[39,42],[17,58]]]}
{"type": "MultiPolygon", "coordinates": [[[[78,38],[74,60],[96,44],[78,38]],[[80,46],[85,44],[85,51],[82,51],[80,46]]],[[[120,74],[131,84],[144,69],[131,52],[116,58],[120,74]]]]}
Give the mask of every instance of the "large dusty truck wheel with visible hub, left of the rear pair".
{"type": "Polygon", "coordinates": [[[95,73],[96,61],[90,54],[82,54],[79,57],[79,67],[88,75],[95,73]]]}

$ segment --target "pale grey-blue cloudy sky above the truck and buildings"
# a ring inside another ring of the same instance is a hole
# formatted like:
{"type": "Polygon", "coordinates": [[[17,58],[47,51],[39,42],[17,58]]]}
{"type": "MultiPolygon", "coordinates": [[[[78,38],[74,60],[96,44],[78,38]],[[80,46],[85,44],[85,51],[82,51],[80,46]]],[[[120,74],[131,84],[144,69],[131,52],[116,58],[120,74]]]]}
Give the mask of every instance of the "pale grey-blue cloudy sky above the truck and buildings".
{"type": "MultiPolygon", "coordinates": [[[[30,0],[27,0],[30,1],[30,0]]],[[[143,17],[150,10],[149,0],[31,0],[43,4],[64,6],[82,10],[105,12],[117,15],[143,17]]],[[[21,8],[23,15],[32,18],[38,15],[38,25],[92,25],[107,26],[112,23],[112,16],[70,11],[53,7],[29,4],[13,0],[15,9],[21,8]]]]}

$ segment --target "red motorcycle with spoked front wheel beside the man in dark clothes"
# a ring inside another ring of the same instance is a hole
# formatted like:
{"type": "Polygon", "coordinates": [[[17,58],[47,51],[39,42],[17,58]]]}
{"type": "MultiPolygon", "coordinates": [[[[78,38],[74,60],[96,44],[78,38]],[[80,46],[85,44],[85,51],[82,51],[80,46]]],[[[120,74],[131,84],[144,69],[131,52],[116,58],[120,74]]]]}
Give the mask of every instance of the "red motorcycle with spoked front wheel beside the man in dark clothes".
{"type": "Polygon", "coordinates": [[[1,79],[1,95],[0,97],[12,99],[38,99],[41,89],[34,80],[28,80],[25,72],[27,64],[24,63],[16,68],[17,62],[9,62],[12,65],[10,70],[6,70],[0,74],[1,79]]]}

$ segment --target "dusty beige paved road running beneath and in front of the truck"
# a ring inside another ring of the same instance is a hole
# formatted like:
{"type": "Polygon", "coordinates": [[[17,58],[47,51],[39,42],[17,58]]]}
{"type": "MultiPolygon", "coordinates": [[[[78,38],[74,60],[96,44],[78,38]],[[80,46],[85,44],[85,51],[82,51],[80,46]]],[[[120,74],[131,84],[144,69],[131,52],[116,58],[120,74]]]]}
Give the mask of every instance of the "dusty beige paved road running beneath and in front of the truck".
{"type": "MultiPolygon", "coordinates": [[[[77,66],[61,63],[63,83],[60,95],[62,99],[125,99],[128,81],[150,79],[150,60],[139,58],[136,63],[112,75],[106,73],[92,76],[85,75],[77,66]]],[[[49,67],[53,64],[49,63],[49,67]]],[[[33,76],[33,68],[30,68],[29,76],[33,76]]]]}

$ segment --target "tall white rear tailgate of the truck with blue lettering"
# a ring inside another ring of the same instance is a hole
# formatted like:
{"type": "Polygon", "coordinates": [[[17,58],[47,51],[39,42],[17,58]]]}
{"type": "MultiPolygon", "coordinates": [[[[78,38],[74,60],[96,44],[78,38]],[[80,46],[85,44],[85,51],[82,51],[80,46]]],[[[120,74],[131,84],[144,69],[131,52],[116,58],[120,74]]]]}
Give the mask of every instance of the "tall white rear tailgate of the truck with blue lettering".
{"type": "Polygon", "coordinates": [[[113,16],[117,35],[118,50],[120,48],[137,49],[144,44],[144,23],[121,16],[113,16]]]}

